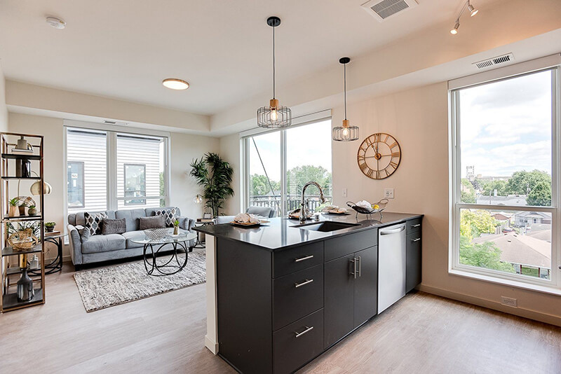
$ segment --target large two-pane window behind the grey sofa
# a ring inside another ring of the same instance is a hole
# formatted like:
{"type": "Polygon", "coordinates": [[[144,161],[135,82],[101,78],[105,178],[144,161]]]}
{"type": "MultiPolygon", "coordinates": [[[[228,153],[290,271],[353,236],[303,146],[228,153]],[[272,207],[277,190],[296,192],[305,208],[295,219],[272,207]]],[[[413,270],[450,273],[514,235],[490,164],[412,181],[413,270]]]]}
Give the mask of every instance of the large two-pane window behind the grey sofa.
{"type": "Polygon", "coordinates": [[[166,137],[67,127],[67,209],[163,207],[166,137]]]}

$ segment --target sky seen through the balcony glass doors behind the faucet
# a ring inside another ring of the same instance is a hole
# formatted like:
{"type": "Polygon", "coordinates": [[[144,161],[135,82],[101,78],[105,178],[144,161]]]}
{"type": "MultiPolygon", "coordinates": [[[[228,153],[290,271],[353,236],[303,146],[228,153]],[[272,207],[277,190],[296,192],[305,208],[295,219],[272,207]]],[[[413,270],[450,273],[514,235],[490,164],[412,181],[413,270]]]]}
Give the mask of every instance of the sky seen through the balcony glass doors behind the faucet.
{"type": "MultiPolygon", "coordinates": [[[[254,137],[269,178],[280,181],[280,131],[254,137]]],[[[331,120],[286,130],[286,169],[303,165],[323,166],[331,172],[331,120]]],[[[250,140],[250,174],[264,174],[250,140]]]]}

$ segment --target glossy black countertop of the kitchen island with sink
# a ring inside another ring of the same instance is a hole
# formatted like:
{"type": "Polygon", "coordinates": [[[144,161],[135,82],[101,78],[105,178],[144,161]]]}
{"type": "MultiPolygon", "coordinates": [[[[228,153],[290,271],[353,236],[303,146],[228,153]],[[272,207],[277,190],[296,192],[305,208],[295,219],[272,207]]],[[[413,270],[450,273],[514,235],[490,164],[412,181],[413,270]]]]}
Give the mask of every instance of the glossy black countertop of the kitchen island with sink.
{"type": "MultiPolygon", "coordinates": [[[[221,225],[196,227],[194,230],[215,237],[238,240],[239,242],[254,244],[259,247],[274,250],[297,247],[301,244],[318,242],[320,240],[331,239],[332,237],[356,233],[362,230],[390,226],[410,219],[416,219],[421,216],[423,215],[384,212],[381,220],[377,221],[376,219],[365,219],[363,214],[359,214],[357,219],[354,212],[351,212],[350,215],[344,216],[320,214],[320,221],[358,223],[358,226],[331,231],[329,233],[292,227],[299,225],[299,221],[297,219],[280,217],[267,219],[269,223],[264,223],[257,228],[244,228],[231,225],[231,223],[222,223],[221,225]]],[[[379,218],[379,214],[374,214],[374,218],[379,218]]],[[[306,223],[314,223],[314,221],[308,220],[306,223]]]]}

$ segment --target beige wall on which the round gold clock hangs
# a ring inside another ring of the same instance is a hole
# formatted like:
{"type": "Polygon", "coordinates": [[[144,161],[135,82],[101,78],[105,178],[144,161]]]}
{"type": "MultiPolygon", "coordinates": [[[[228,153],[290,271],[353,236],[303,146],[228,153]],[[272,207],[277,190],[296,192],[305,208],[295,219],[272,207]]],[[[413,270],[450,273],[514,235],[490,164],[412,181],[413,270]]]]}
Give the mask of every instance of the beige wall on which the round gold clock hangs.
{"type": "MultiPolygon", "coordinates": [[[[351,104],[351,124],[360,126],[360,140],[374,132],[398,139],[401,164],[388,179],[374,181],[358,168],[360,141],[333,143],[334,202],[378,201],[384,188],[394,188],[391,212],[425,214],[421,289],[561,326],[561,298],[448,274],[449,172],[447,84],[438,83],[351,104]],[[342,197],[348,189],[348,198],[342,197]],[[518,308],[501,305],[501,296],[518,299],[518,308]]],[[[340,125],[342,108],[333,110],[340,125]]]]}

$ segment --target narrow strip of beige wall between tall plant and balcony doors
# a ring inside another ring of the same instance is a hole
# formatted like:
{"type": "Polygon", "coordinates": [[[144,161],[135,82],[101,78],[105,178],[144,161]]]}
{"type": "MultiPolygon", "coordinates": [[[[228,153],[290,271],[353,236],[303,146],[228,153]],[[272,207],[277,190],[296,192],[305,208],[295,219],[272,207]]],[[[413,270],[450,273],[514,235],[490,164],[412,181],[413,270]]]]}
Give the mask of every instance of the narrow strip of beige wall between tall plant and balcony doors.
{"type": "Polygon", "coordinates": [[[234,215],[241,212],[241,204],[243,193],[241,191],[241,166],[242,166],[242,153],[241,141],[239,134],[231,134],[227,137],[220,138],[220,156],[227,160],[231,167],[234,168],[234,180],[232,181],[232,188],[234,188],[234,196],[226,200],[223,213],[226,215],[234,215]]]}

